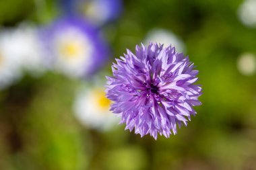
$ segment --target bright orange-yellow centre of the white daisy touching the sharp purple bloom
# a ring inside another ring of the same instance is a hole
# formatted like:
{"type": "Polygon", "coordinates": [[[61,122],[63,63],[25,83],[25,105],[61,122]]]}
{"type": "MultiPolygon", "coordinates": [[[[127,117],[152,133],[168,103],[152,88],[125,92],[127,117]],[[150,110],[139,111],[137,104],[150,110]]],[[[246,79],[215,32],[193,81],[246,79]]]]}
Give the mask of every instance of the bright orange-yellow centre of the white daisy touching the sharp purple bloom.
{"type": "Polygon", "coordinates": [[[106,98],[104,91],[94,91],[94,97],[100,110],[108,110],[111,101],[106,98]]]}

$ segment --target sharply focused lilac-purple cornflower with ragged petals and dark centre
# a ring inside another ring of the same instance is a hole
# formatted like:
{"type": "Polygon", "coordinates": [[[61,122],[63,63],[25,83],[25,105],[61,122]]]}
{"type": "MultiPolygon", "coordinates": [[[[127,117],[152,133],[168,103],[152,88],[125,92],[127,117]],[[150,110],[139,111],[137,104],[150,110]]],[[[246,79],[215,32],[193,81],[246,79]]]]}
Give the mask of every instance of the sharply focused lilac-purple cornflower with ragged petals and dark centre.
{"type": "Polygon", "coordinates": [[[106,77],[106,96],[115,101],[110,110],[141,137],[177,134],[177,125],[187,126],[193,106],[201,105],[201,87],[193,84],[199,71],[172,46],[141,44],[124,56],[113,63],[113,77],[106,77]]]}

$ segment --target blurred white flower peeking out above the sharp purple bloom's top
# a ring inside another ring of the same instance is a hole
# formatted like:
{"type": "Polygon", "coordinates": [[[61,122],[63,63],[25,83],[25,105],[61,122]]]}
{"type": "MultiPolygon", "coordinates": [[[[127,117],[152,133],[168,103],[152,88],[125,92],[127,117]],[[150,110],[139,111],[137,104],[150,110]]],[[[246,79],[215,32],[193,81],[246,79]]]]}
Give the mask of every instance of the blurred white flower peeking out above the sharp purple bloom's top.
{"type": "Polygon", "coordinates": [[[184,52],[185,51],[185,44],[175,34],[168,30],[164,29],[154,29],[148,32],[145,40],[143,41],[145,44],[150,44],[150,42],[156,42],[156,43],[161,43],[164,44],[164,46],[175,46],[176,50],[178,52],[184,52]]]}

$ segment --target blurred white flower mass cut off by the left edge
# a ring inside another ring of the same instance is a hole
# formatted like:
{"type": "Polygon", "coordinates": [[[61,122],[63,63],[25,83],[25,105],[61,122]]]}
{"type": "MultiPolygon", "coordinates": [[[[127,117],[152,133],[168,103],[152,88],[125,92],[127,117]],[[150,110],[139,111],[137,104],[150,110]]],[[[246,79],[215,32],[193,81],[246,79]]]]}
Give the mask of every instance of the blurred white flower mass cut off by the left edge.
{"type": "Polygon", "coordinates": [[[0,89],[15,83],[24,71],[42,73],[42,50],[37,28],[21,24],[18,28],[3,28],[0,32],[0,89]]]}

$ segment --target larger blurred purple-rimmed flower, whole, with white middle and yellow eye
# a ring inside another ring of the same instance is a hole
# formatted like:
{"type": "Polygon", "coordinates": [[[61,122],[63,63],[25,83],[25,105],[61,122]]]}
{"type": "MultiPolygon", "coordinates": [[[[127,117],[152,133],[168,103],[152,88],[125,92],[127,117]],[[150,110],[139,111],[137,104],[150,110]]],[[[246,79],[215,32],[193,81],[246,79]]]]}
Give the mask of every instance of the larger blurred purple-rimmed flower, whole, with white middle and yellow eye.
{"type": "Polygon", "coordinates": [[[70,77],[89,77],[107,61],[108,46],[84,19],[65,17],[42,30],[49,65],[70,77]]]}

